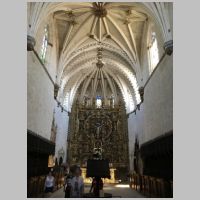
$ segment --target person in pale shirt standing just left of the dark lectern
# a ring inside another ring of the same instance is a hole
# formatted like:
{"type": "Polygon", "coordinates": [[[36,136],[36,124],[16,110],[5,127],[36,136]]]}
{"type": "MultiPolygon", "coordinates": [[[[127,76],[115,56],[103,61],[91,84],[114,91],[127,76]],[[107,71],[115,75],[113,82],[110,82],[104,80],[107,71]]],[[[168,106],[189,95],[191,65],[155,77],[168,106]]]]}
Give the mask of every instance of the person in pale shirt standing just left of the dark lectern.
{"type": "Polygon", "coordinates": [[[81,177],[81,169],[77,167],[75,169],[74,177],[71,179],[71,197],[80,198],[83,197],[84,183],[81,177]]]}

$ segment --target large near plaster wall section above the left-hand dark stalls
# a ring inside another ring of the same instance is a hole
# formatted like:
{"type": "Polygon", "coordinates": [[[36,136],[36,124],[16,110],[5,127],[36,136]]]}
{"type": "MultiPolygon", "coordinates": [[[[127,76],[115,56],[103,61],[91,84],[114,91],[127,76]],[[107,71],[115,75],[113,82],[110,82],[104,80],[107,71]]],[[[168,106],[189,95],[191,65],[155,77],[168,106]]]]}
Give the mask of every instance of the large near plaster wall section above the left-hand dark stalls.
{"type": "Polygon", "coordinates": [[[33,52],[27,52],[27,128],[50,139],[54,86],[33,52]]]}

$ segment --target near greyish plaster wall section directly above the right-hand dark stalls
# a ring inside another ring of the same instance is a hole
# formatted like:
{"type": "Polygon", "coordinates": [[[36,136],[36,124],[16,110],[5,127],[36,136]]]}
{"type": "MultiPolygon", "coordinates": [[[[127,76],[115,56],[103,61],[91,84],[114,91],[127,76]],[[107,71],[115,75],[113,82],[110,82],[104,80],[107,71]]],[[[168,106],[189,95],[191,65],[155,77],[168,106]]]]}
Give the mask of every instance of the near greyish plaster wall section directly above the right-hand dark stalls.
{"type": "Polygon", "coordinates": [[[144,91],[144,140],[173,129],[173,57],[165,56],[144,91]]]}

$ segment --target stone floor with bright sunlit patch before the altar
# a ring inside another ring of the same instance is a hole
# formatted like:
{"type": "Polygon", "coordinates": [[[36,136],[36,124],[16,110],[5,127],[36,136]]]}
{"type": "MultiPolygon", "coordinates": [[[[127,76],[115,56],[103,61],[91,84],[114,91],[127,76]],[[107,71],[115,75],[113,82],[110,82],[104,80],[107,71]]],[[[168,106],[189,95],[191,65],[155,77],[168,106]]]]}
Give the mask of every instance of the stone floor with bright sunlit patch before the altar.
{"type": "MultiPolygon", "coordinates": [[[[85,193],[88,193],[90,185],[85,185],[85,193]]],[[[113,198],[144,198],[144,196],[137,191],[131,189],[128,184],[105,184],[104,193],[111,193],[113,198]]],[[[50,195],[50,198],[64,198],[63,188],[55,191],[50,195]]]]}

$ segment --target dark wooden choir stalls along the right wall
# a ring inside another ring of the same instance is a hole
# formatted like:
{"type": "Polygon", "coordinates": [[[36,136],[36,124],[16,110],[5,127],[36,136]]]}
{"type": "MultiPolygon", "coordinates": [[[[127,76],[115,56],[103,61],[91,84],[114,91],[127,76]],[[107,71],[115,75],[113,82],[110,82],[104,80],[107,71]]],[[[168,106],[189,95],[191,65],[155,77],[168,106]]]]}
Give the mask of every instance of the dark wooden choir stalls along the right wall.
{"type": "MultiPolygon", "coordinates": [[[[130,187],[147,197],[173,197],[173,131],[141,145],[143,172],[131,174],[130,187]]],[[[137,157],[137,155],[136,155],[137,157]]],[[[138,169],[137,162],[136,169],[138,169]]]]}

